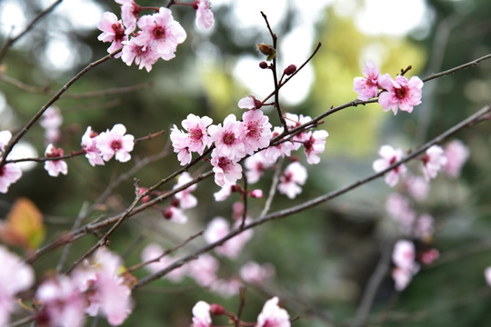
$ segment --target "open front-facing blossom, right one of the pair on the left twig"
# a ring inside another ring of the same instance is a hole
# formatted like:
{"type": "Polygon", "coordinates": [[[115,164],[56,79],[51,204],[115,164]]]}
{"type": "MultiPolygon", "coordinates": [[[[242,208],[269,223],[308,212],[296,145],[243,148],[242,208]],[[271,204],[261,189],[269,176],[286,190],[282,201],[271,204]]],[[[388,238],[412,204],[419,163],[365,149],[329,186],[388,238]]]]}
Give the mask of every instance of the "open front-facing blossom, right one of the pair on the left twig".
{"type": "Polygon", "coordinates": [[[105,161],[109,161],[113,156],[121,163],[131,159],[129,153],[133,151],[135,136],[125,133],[124,124],[115,124],[111,131],[107,130],[99,134],[96,145],[105,161]]]}

